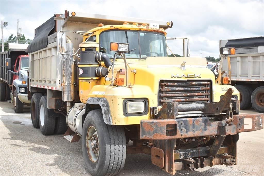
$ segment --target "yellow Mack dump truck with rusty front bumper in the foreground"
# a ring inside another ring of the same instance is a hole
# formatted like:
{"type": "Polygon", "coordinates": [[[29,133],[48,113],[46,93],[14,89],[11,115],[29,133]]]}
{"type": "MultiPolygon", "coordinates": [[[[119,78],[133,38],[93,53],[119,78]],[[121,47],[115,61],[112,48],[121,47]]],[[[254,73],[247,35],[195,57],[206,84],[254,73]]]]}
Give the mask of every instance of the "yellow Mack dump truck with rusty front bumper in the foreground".
{"type": "MultiPolygon", "coordinates": [[[[215,81],[205,58],[168,57],[171,27],[67,10],[51,17],[27,48],[33,126],[81,138],[92,175],[118,174],[134,153],[173,175],[237,164],[239,132],[263,129],[263,114],[239,115],[230,70],[215,81]]],[[[221,62],[234,52],[221,48],[221,62]]]]}

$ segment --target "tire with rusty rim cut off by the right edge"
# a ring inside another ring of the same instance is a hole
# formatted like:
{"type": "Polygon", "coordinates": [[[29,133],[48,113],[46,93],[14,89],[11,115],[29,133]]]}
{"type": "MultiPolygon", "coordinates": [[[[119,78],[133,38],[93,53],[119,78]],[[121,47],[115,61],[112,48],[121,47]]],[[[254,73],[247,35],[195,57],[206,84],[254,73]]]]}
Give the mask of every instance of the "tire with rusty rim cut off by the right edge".
{"type": "Polygon", "coordinates": [[[251,96],[251,102],[257,112],[264,112],[264,86],[257,87],[251,96]]]}

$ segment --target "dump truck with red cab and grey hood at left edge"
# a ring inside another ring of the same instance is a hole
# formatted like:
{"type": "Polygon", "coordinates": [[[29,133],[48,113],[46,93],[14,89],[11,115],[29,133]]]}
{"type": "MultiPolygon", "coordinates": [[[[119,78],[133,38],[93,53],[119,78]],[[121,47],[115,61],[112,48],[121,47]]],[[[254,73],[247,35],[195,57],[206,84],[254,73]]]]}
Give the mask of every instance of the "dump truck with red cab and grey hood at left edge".
{"type": "Polygon", "coordinates": [[[8,43],[8,51],[0,53],[0,101],[12,99],[15,113],[23,112],[23,105],[30,105],[27,98],[27,70],[29,44],[8,43]]]}

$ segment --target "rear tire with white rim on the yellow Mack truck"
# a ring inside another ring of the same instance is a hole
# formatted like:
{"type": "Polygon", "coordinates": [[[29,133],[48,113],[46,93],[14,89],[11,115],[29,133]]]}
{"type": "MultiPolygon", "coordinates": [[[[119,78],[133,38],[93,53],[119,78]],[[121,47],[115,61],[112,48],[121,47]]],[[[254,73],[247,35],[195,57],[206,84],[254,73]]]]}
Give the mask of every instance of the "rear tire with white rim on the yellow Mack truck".
{"type": "Polygon", "coordinates": [[[56,118],[48,116],[47,96],[42,96],[39,102],[39,127],[43,135],[52,135],[56,118]]]}

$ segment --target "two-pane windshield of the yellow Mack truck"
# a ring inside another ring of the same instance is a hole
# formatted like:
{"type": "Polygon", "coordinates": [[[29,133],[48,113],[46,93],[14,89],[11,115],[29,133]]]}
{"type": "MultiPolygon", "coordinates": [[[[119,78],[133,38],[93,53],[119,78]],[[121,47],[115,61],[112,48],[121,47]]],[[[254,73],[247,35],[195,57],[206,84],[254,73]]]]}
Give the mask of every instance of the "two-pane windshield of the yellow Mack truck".
{"type": "Polygon", "coordinates": [[[106,31],[99,37],[100,51],[114,58],[114,51],[110,51],[110,43],[128,43],[129,50],[126,58],[146,58],[149,56],[167,56],[166,39],[162,34],[139,31],[106,31]]]}

